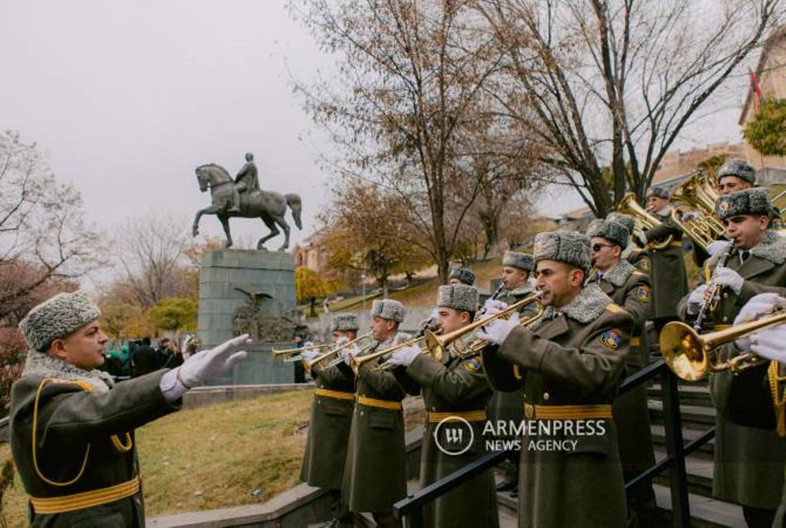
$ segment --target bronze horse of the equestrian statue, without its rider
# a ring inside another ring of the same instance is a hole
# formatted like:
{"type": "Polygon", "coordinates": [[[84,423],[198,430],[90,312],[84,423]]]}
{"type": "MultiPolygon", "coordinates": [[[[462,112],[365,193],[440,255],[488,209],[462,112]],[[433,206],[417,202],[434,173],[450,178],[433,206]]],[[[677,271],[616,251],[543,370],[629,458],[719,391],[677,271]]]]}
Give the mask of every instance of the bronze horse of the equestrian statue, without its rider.
{"type": "Polygon", "coordinates": [[[303,229],[300,222],[300,196],[294,193],[282,195],[279,192],[271,191],[251,191],[241,192],[241,211],[239,213],[229,211],[232,206],[232,191],[235,185],[230,173],[224,167],[215,163],[208,163],[196,167],[196,180],[199,181],[199,189],[205,192],[210,189],[213,203],[210,207],[205,207],[196,212],[194,218],[192,235],[199,234],[199,220],[203,214],[215,214],[219,217],[219,222],[226,234],[226,247],[232,247],[232,235],[230,233],[230,218],[262,218],[267,229],[270,229],[265,237],[259,239],[256,244],[257,249],[264,249],[263,244],[278,233],[278,228],[284,231],[284,244],[278,251],[284,251],[289,247],[289,224],[284,219],[287,207],[292,210],[292,218],[295,220],[297,229],[303,229]]]}

